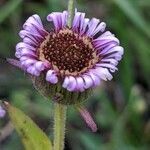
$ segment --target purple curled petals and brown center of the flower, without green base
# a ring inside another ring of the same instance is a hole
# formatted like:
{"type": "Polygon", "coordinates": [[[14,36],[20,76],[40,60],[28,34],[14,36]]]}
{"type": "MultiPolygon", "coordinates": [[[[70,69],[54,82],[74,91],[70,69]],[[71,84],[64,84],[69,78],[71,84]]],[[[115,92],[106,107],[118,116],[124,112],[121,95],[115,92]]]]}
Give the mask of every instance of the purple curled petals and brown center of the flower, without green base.
{"type": "Polygon", "coordinates": [[[70,92],[83,92],[101,80],[111,80],[123,55],[119,40],[105,31],[104,22],[85,18],[85,13],[75,12],[71,28],[67,19],[67,11],[49,14],[47,20],[54,24],[50,31],[38,15],[27,19],[15,54],[21,68],[35,78],[44,74],[50,85],[59,83],[70,92]]]}

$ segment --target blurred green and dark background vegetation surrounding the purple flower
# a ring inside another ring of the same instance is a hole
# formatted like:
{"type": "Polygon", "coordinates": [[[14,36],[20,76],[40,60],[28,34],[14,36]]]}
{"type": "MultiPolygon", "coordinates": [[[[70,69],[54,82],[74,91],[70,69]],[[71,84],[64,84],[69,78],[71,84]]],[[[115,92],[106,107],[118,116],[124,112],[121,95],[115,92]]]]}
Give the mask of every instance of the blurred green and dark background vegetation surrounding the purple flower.
{"type": "MultiPolygon", "coordinates": [[[[79,11],[107,23],[125,49],[119,71],[84,103],[98,132],[92,133],[70,106],[66,150],[150,149],[150,0],[77,0],[79,11]]],[[[0,57],[14,57],[18,32],[32,14],[67,8],[67,0],[0,0],[0,57]]],[[[53,105],[20,70],[0,60],[0,99],[23,110],[52,138],[53,105]]],[[[23,150],[9,118],[0,120],[0,150],[23,150]]]]}

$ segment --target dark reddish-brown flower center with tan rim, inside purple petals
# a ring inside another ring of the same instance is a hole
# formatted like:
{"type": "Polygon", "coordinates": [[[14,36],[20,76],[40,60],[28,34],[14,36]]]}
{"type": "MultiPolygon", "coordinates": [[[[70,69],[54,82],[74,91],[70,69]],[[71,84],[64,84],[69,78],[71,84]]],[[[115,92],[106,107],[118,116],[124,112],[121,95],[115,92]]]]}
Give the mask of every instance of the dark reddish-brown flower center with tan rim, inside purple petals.
{"type": "Polygon", "coordinates": [[[61,76],[79,75],[99,61],[91,39],[68,28],[49,33],[38,48],[38,56],[48,61],[61,76]]]}

